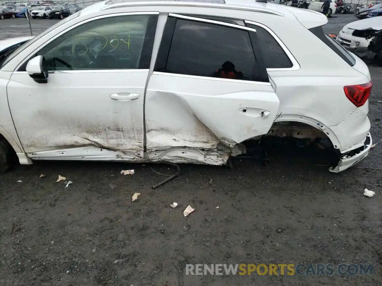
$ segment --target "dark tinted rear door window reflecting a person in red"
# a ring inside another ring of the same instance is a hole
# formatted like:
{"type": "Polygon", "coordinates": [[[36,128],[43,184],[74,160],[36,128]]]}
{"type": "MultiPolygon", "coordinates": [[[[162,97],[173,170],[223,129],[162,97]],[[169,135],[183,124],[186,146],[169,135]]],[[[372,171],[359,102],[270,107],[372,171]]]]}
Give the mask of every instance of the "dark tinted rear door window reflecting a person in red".
{"type": "Polygon", "coordinates": [[[178,19],[165,72],[250,80],[255,63],[247,31],[178,19]]]}

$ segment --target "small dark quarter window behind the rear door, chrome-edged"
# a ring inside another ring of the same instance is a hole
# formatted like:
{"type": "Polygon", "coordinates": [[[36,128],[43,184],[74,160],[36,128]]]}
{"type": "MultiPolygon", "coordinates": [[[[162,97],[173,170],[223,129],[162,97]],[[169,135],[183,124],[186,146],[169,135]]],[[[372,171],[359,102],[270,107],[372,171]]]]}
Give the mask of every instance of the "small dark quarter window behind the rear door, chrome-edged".
{"type": "Polygon", "coordinates": [[[267,69],[285,69],[293,66],[283,48],[267,30],[254,24],[246,25],[256,29],[259,46],[267,69]]]}

